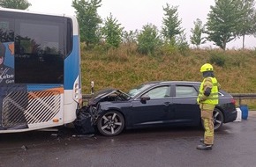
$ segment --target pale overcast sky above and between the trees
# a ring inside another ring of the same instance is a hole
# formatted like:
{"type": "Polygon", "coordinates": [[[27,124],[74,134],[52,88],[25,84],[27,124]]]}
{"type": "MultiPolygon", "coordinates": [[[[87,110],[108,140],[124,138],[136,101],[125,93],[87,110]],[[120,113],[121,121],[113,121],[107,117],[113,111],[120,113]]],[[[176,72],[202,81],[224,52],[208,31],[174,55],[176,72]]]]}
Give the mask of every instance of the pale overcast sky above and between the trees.
{"type": "MultiPolygon", "coordinates": [[[[29,11],[68,14],[75,16],[72,0],[28,0],[32,6],[29,11]]],[[[98,14],[102,19],[109,17],[110,13],[126,31],[142,30],[143,25],[153,24],[161,30],[164,11],[163,6],[177,6],[178,18],[182,20],[181,26],[185,29],[186,40],[190,43],[193,22],[200,18],[203,24],[207,22],[207,13],[210,6],[215,5],[215,0],[102,0],[98,14]]],[[[212,42],[207,42],[201,47],[215,47],[212,42]]],[[[229,42],[227,47],[239,49],[242,39],[229,42]]],[[[256,47],[256,38],[245,37],[245,47],[256,47]]]]}

